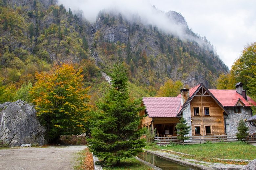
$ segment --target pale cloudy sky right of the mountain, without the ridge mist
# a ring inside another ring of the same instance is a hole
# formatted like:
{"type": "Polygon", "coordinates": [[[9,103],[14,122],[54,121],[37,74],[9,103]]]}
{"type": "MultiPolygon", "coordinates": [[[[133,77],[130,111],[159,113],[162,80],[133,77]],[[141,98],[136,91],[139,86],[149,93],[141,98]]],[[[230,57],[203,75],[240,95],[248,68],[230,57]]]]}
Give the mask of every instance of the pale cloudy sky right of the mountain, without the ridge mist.
{"type": "Polygon", "coordinates": [[[150,0],[163,11],[181,13],[193,32],[216,47],[231,69],[244,46],[256,41],[255,0],[150,0]]]}

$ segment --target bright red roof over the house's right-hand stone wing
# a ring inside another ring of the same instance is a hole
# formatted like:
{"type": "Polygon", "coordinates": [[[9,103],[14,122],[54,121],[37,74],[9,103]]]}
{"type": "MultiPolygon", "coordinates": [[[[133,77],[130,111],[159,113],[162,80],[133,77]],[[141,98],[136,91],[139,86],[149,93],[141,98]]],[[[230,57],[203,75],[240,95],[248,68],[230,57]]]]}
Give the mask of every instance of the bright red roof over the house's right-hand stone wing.
{"type": "Polygon", "coordinates": [[[236,90],[209,89],[209,91],[224,107],[234,107],[239,100],[244,106],[256,106],[256,102],[249,96],[247,96],[247,100],[245,100],[241,94],[236,92],[236,90]]]}

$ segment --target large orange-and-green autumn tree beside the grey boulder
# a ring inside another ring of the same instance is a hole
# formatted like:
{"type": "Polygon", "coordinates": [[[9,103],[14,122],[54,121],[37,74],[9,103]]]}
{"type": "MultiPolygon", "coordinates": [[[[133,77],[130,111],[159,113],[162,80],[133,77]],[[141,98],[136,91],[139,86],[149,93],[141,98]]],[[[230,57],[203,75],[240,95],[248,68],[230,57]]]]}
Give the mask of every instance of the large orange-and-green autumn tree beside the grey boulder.
{"type": "Polygon", "coordinates": [[[55,64],[49,73],[36,73],[32,102],[40,121],[47,127],[50,142],[57,142],[60,135],[84,132],[89,87],[83,87],[81,72],[69,64],[55,64]]]}

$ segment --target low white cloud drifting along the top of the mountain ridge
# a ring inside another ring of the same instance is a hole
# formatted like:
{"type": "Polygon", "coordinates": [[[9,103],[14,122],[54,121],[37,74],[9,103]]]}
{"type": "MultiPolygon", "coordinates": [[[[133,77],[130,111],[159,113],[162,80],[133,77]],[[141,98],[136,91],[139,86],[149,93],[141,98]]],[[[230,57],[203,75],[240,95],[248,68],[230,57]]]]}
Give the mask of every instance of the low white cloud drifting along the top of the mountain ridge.
{"type": "Polygon", "coordinates": [[[115,11],[131,21],[135,16],[139,16],[143,24],[152,24],[152,26],[157,26],[158,29],[177,35],[181,39],[192,38],[184,33],[185,27],[183,24],[177,24],[165,12],[156,10],[149,0],[59,0],[59,4],[71,8],[72,11],[82,10],[84,17],[91,23],[96,21],[100,11],[115,11]]]}

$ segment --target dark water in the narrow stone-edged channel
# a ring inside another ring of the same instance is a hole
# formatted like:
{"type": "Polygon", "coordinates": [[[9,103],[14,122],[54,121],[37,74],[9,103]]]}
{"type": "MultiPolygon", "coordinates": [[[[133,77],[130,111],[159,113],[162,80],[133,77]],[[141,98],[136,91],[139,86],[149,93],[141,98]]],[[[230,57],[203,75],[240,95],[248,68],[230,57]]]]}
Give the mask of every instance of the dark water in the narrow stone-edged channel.
{"type": "Polygon", "coordinates": [[[163,158],[158,157],[157,155],[154,155],[148,152],[142,152],[138,155],[138,157],[163,170],[193,170],[189,167],[182,166],[177,163],[173,163],[171,161],[165,160],[163,158]]]}

